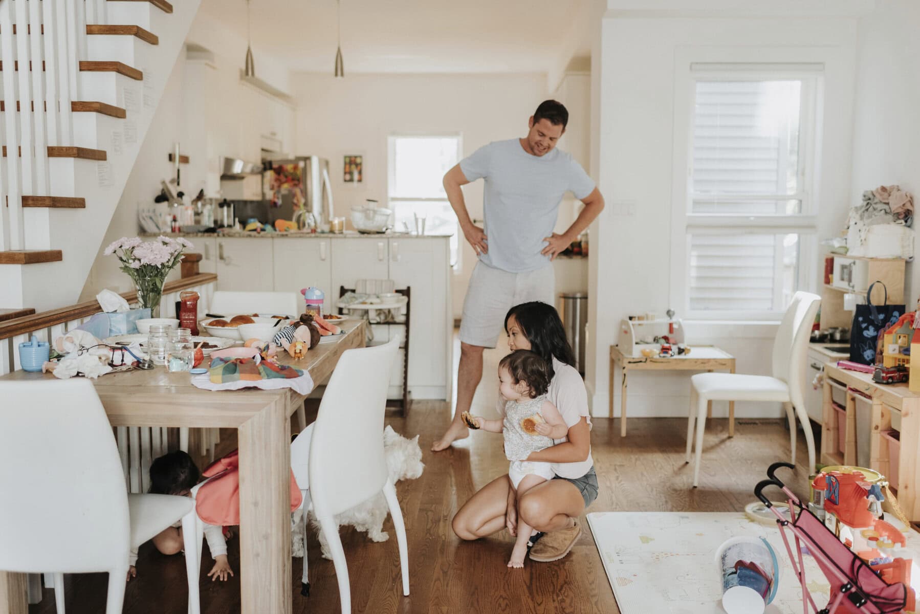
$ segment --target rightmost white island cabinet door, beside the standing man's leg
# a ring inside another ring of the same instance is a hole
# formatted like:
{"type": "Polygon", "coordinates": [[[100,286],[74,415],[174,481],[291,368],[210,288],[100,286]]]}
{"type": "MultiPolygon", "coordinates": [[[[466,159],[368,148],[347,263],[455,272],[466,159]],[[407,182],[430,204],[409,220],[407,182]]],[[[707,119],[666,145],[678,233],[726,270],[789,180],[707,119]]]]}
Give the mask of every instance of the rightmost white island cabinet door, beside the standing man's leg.
{"type": "MultiPolygon", "coordinates": [[[[443,398],[448,373],[451,319],[450,245],[441,238],[389,241],[389,277],[412,294],[409,326],[408,387],[417,398],[443,398]]],[[[393,334],[391,326],[390,334],[393,334]]]]}

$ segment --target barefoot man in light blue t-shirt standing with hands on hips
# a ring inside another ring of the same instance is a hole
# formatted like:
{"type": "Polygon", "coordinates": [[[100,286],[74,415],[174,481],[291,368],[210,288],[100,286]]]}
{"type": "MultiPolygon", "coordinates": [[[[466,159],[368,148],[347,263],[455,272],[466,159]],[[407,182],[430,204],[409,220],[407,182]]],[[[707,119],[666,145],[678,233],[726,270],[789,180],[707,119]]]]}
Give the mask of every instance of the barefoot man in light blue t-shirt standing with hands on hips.
{"type": "Polygon", "coordinates": [[[530,118],[525,138],[480,147],[444,175],[444,191],[479,261],[466,289],[460,324],[454,421],[431,446],[435,452],[469,434],[460,414],[473,402],[482,379],[482,352],[495,347],[505,314],[528,301],[555,304],[551,261],[604,209],[604,197],[584,168],[568,153],[556,149],[568,122],[569,111],[561,103],[545,100],[530,118]],[[480,178],[486,182],[485,228],[473,225],[460,189],[480,178]],[[584,209],[569,229],[558,235],[553,228],[567,191],[584,203],[584,209]]]}

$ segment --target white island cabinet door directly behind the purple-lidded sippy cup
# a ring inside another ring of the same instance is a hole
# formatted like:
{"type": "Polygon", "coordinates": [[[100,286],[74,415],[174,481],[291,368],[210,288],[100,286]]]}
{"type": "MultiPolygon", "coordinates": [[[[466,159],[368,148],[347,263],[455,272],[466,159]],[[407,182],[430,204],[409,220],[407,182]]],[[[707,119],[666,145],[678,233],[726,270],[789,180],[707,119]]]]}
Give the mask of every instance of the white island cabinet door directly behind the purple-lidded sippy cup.
{"type": "MultiPolygon", "coordinates": [[[[278,238],[273,244],[274,290],[296,292],[315,286],[326,293],[323,313],[332,313],[339,290],[332,290],[331,246],[328,238],[278,238]]],[[[218,278],[220,279],[220,278],[218,278]]]]}

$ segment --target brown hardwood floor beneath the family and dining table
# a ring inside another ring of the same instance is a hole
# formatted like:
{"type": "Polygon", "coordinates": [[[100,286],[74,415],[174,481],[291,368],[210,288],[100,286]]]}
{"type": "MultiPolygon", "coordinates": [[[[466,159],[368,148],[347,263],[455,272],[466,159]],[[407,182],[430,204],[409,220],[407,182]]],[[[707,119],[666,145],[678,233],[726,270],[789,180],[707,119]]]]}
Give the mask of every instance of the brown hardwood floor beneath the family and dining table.
{"type": "MultiPolygon", "coordinates": [[[[477,401],[487,405],[489,402],[477,401]]],[[[502,453],[501,437],[489,433],[473,434],[450,450],[431,453],[432,439],[443,432],[448,420],[447,403],[435,401],[416,401],[408,418],[387,417],[386,422],[397,432],[420,434],[425,462],[418,480],[397,483],[408,532],[411,595],[402,597],[396,534],[389,518],[385,530],[391,537],[382,543],[366,539],[351,527],[342,527],[353,611],[619,612],[587,523],[569,556],[551,563],[528,560],[523,570],[512,571],[505,566],[512,539],[504,531],[476,542],[454,537],[450,520],[456,510],[478,487],[507,471],[508,461],[502,453]]],[[[588,512],[741,510],[753,501],[753,486],[765,478],[766,467],[789,457],[788,431],[781,421],[738,421],[733,439],[728,438],[727,421],[707,421],[701,485],[691,489],[692,468],[684,464],[685,420],[630,418],[625,439],[619,437],[617,420],[595,418],[593,424],[592,451],[601,492],[588,512]]],[[[232,448],[236,445],[234,439],[231,431],[224,432],[222,447],[232,448]]],[[[806,458],[802,437],[798,453],[799,459],[806,458]]],[[[807,492],[804,469],[799,467],[787,483],[796,492],[807,492]]],[[[228,547],[230,561],[238,573],[239,539],[231,539],[228,547]]],[[[213,583],[204,575],[213,564],[207,550],[202,559],[201,611],[239,611],[238,577],[213,583]]],[[[309,562],[311,597],[301,597],[301,560],[293,561],[293,612],[338,611],[335,571],[331,561],[321,558],[315,535],[309,538],[309,562]]],[[[65,578],[70,614],[104,611],[106,574],[65,578]]],[[[45,589],[43,597],[29,612],[55,611],[53,591],[45,589]]],[[[124,611],[185,614],[186,603],[185,563],[181,555],[163,556],[146,544],[140,553],[138,577],[127,586],[124,611]]]]}

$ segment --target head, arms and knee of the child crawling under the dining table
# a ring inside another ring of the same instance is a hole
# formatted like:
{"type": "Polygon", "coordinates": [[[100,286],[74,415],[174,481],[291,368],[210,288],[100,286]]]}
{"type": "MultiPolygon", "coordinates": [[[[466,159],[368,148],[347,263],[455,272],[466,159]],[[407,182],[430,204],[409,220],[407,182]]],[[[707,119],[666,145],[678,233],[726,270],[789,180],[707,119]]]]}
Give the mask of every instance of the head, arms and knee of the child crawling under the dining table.
{"type": "MultiPolygon", "coordinates": [[[[155,458],[150,465],[150,491],[153,494],[177,494],[188,497],[191,494],[191,488],[198,483],[201,478],[201,471],[195,465],[191,457],[177,450],[170,452],[160,458],[155,458]]],[[[214,557],[214,566],[208,577],[212,580],[227,579],[227,574],[233,575],[230,568],[230,562],[227,561],[227,546],[224,539],[224,530],[222,527],[204,524],[204,538],[208,541],[208,550],[211,550],[211,556],[214,557]]],[[[180,524],[168,527],[166,530],[157,533],[153,539],[156,550],[163,554],[177,554],[185,547],[182,539],[182,528],[180,524]]],[[[137,550],[132,550],[128,569],[128,580],[137,575],[137,550]]]]}

